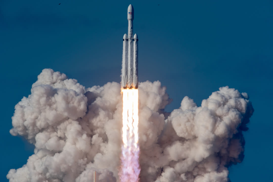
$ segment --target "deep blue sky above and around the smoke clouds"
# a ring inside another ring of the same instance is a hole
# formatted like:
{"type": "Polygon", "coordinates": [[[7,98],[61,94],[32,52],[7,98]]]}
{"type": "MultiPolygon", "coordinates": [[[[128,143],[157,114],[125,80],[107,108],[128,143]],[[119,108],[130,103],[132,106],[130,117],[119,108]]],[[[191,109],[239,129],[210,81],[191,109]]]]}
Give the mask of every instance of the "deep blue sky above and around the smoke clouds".
{"type": "Polygon", "coordinates": [[[273,2],[264,1],[1,1],[2,127],[0,181],[26,164],[32,145],[11,136],[14,106],[44,68],[86,87],[120,82],[127,7],[135,9],[139,80],[161,81],[179,108],[198,106],[228,85],[247,92],[255,109],[245,159],[230,168],[239,181],[271,181],[273,162],[273,2]],[[58,5],[61,3],[60,5],[58,5]],[[158,5],[160,4],[160,5],[158,5]]]}

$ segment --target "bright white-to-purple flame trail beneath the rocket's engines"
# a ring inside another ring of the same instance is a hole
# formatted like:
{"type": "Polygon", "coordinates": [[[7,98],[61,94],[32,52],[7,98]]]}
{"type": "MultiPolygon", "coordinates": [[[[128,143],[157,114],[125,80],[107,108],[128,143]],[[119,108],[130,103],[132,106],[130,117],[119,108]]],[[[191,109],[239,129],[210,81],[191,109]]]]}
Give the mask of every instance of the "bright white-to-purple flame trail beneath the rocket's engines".
{"type": "Polygon", "coordinates": [[[138,89],[123,89],[122,154],[120,182],[139,181],[138,89]]]}

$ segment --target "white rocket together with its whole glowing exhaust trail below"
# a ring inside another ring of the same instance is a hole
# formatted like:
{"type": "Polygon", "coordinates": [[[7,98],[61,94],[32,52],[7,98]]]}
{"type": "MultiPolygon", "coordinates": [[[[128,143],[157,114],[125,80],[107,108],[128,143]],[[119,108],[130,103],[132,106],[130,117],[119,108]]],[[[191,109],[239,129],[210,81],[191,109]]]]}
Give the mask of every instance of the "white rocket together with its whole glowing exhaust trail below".
{"type": "Polygon", "coordinates": [[[121,85],[123,87],[122,141],[120,182],[139,181],[138,145],[138,37],[133,35],[134,10],[127,10],[128,36],[123,36],[121,85]]]}

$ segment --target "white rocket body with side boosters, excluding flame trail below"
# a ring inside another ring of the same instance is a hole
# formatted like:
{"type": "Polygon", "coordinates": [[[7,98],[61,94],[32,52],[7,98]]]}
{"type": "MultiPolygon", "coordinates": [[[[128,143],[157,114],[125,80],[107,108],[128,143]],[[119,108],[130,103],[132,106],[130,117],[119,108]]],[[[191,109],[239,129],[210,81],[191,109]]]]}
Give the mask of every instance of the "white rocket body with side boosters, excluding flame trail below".
{"type": "Polygon", "coordinates": [[[128,35],[123,35],[121,87],[138,88],[138,37],[133,36],[134,8],[130,4],[127,10],[128,35]]]}

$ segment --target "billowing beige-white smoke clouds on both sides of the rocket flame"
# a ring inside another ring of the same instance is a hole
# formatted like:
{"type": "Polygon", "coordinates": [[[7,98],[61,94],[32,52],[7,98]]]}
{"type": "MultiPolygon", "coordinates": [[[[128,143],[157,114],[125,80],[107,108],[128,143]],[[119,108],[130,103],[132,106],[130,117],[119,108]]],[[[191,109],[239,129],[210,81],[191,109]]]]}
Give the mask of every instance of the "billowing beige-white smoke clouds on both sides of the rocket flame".
{"type": "MultiPolygon", "coordinates": [[[[15,106],[11,135],[35,145],[10,182],[118,181],[121,154],[120,84],[85,88],[65,74],[44,69],[31,94],[15,106]]],[[[225,182],[228,167],[244,158],[253,113],[247,93],[222,87],[200,107],[184,97],[179,109],[159,81],[139,84],[141,182],[225,182]]]]}

